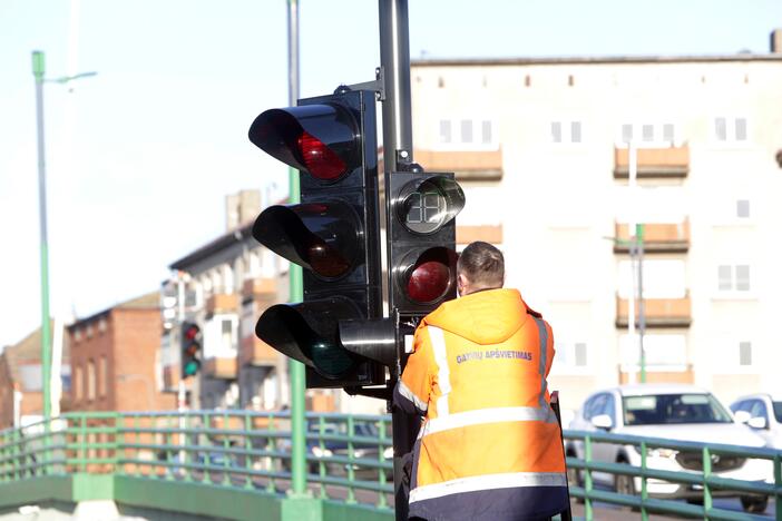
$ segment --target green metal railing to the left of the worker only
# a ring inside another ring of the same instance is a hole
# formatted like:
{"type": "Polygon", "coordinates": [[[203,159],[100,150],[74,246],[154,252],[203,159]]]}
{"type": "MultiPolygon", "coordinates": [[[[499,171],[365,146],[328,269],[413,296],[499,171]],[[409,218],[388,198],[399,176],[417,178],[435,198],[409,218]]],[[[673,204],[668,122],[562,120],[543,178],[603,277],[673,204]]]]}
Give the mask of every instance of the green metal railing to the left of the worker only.
{"type": "MultiPolygon", "coordinates": [[[[306,421],[310,494],[392,519],[390,416],[306,421]]],[[[0,491],[4,483],[87,474],[284,499],[293,480],[290,425],[287,414],[238,410],[67,413],[0,432],[0,491]]],[[[12,504],[4,498],[0,505],[12,504]]]]}

